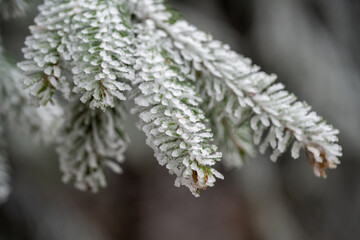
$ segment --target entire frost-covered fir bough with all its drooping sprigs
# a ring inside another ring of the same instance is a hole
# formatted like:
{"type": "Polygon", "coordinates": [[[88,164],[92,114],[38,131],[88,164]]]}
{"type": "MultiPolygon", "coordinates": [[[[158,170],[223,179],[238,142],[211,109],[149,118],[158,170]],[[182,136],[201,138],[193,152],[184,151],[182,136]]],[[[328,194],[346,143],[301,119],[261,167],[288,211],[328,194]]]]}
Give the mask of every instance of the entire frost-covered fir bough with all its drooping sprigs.
{"type": "Polygon", "coordinates": [[[39,105],[75,99],[58,152],[78,188],[104,186],[105,165],[117,171],[129,96],[155,157],[194,195],[222,178],[213,142],[230,167],[253,154],[252,138],[273,161],[290,144],[294,158],[303,148],[317,176],[339,163],[337,130],[163,0],[45,0],[39,10],[19,66],[39,105]]]}

